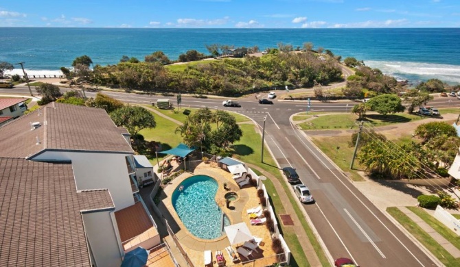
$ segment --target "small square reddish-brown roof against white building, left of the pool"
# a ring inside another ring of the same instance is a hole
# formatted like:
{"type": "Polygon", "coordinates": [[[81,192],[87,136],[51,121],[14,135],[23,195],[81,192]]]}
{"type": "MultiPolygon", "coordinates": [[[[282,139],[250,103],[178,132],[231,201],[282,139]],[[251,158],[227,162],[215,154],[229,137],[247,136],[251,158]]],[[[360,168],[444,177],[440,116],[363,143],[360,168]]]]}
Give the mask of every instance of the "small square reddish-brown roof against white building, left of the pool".
{"type": "Polygon", "coordinates": [[[139,236],[153,226],[141,202],[115,212],[122,242],[139,236]]]}

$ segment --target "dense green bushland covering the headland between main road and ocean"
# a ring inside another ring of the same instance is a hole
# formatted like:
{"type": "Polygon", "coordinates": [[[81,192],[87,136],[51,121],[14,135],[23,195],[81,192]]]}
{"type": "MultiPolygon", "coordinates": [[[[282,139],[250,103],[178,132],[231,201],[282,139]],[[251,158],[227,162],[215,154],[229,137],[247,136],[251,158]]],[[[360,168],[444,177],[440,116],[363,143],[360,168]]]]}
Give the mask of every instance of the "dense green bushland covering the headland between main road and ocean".
{"type": "MultiPolygon", "coordinates": [[[[203,59],[197,51],[187,51],[180,62],[203,59]]],[[[335,58],[317,57],[316,52],[281,52],[271,49],[262,57],[246,55],[240,60],[222,59],[187,65],[180,70],[165,67],[168,58],[157,51],[146,62],[130,62],[128,57],[116,65],[95,65],[93,70],[76,60],[73,77],[94,84],[147,92],[177,92],[235,96],[275,87],[311,87],[341,81],[341,66],[335,58]]]]}

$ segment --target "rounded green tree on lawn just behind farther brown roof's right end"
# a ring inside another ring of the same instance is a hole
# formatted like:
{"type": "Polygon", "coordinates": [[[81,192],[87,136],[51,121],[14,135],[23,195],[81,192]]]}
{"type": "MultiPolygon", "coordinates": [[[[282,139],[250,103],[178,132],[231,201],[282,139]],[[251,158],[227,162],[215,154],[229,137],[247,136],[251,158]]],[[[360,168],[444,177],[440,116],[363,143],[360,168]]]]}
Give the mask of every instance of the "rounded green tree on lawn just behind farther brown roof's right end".
{"type": "Polygon", "coordinates": [[[157,126],[154,116],[145,108],[125,105],[110,114],[113,123],[125,127],[131,136],[135,138],[141,129],[154,128],[157,126]]]}

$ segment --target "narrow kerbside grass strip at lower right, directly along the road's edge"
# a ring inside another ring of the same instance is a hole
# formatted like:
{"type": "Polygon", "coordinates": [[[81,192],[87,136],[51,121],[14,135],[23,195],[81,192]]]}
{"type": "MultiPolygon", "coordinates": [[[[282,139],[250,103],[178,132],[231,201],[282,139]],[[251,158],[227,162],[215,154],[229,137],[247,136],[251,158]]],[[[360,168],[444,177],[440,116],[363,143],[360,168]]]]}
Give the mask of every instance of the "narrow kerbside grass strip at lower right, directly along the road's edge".
{"type": "Polygon", "coordinates": [[[439,259],[444,265],[450,266],[460,266],[459,259],[452,257],[441,245],[439,245],[436,240],[431,238],[428,233],[426,233],[421,227],[411,220],[406,214],[401,212],[398,207],[388,207],[387,212],[398,220],[400,225],[402,225],[412,236],[417,238],[420,243],[422,243],[428,251],[433,253],[437,259],[439,259]]]}

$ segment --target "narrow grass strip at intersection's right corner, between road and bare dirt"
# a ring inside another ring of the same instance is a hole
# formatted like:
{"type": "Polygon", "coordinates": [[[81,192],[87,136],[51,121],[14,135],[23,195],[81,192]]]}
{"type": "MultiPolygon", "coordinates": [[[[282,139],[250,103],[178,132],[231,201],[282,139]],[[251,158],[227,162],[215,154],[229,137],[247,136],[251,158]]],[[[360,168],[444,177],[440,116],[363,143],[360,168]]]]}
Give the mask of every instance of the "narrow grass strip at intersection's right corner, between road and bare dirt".
{"type": "MultiPolygon", "coordinates": [[[[412,120],[419,120],[423,117],[415,114],[398,113],[388,114],[367,114],[364,118],[365,123],[371,123],[373,126],[390,125],[393,123],[409,123],[412,120]]],[[[308,123],[299,124],[301,129],[357,129],[358,116],[355,114],[329,114],[318,115],[318,118],[308,121],[308,123]]]]}

